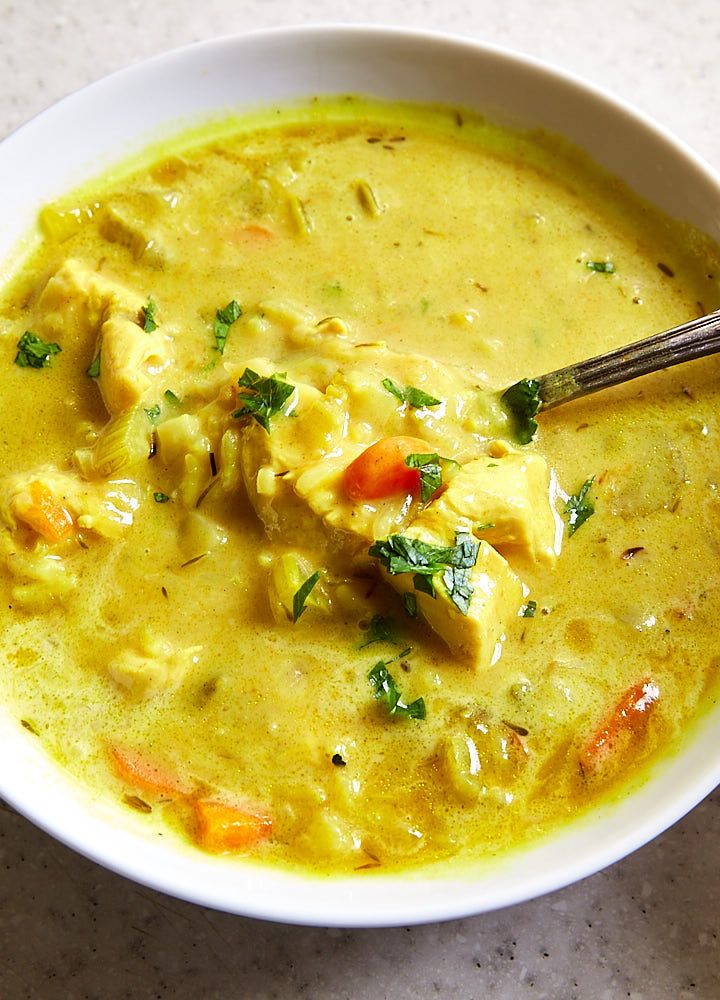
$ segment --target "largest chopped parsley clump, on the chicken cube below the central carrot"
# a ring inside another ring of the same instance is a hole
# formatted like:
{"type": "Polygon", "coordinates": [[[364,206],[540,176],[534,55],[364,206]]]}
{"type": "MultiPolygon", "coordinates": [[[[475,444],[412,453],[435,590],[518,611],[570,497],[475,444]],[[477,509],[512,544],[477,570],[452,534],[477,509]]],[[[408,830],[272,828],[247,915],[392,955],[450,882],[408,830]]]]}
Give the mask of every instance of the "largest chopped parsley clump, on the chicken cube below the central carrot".
{"type": "Polygon", "coordinates": [[[480,543],[472,535],[458,532],[454,545],[431,545],[419,538],[390,535],[368,549],[391,575],[412,573],[415,590],[435,597],[433,577],[442,574],[448,597],[461,614],[470,607],[473,588],[470,571],[475,565],[480,543]]]}

